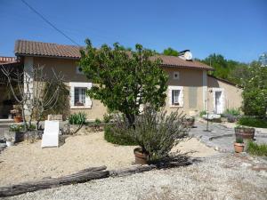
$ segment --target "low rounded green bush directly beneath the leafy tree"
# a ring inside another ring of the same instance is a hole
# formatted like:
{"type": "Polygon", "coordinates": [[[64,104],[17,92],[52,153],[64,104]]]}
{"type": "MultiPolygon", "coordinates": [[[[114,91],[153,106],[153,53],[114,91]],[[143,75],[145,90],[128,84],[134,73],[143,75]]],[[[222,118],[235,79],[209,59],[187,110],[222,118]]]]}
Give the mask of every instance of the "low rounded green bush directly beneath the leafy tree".
{"type": "Polygon", "coordinates": [[[128,129],[121,129],[114,125],[106,125],[104,127],[104,138],[108,142],[117,145],[134,146],[137,145],[129,134],[126,134],[128,129]]]}

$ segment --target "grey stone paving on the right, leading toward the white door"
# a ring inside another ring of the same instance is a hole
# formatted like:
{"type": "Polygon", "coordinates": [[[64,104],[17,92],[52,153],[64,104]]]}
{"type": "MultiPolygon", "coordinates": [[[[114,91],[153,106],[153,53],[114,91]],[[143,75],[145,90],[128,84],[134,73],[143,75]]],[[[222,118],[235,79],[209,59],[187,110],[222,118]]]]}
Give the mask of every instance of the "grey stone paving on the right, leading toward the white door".
{"type": "MultiPolygon", "coordinates": [[[[206,124],[197,122],[196,128],[192,128],[190,136],[198,138],[206,146],[219,150],[221,152],[233,152],[233,142],[235,141],[235,132],[233,128],[227,128],[222,124],[209,124],[206,132],[206,124]]],[[[257,143],[267,143],[267,134],[255,132],[255,141],[257,143]]]]}

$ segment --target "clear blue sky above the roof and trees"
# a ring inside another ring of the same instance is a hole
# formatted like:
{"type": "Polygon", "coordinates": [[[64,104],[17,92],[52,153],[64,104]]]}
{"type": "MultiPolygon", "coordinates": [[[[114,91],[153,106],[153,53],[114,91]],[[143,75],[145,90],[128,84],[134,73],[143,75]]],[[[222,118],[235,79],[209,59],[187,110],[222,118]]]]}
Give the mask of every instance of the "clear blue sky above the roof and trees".
{"type": "MultiPolygon", "coordinates": [[[[25,1],[81,45],[89,37],[96,46],[170,46],[245,62],[267,52],[267,0],[25,1]]],[[[0,22],[0,55],[13,56],[16,39],[71,44],[20,0],[0,0],[0,22]]]]}

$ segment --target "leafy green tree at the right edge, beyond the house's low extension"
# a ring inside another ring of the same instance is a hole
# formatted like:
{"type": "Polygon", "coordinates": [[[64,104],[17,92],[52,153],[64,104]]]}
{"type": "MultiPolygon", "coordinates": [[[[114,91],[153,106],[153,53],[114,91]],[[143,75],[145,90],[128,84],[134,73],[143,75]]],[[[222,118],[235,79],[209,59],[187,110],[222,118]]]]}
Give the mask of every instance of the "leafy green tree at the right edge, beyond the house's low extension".
{"type": "Polygon", "coordinates": [[[243,112],[248,116],[266,117],[267,68],[261,67],[260,62],[252,62],[249,71],[247,79],[242,81],[243,112]]]}

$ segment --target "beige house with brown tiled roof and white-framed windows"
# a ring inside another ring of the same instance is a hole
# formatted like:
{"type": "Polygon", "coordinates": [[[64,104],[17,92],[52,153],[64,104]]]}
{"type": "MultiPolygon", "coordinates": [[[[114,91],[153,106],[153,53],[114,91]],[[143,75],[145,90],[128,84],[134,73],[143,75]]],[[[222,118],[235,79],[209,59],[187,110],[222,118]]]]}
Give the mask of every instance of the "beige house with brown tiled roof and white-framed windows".
{"type": "MultiPolygon", "coordinates": [[[[79,47],[18,40],[14,52],[24,64],[25,72],[34,66],[44,65],[48,76],[52,76],[52,68],[64,75],[70,91],[70,113],[82,111],[89,119],[94,119],[107,112],[99,100],[91,100],[85,95],[85,90],[90,89],[93,83],[78,70],[79,47]]],[[[242,90],[227,81],[208,76],[207,72],[214,69],[190,60],[187,52],[180,57],[159,55],[163,61],[161,67],[169,75],[166,110],[171,112],[180,108],[194,116],[206,109],[222,114],[226,108],[239,108],[242,90]]]]}

